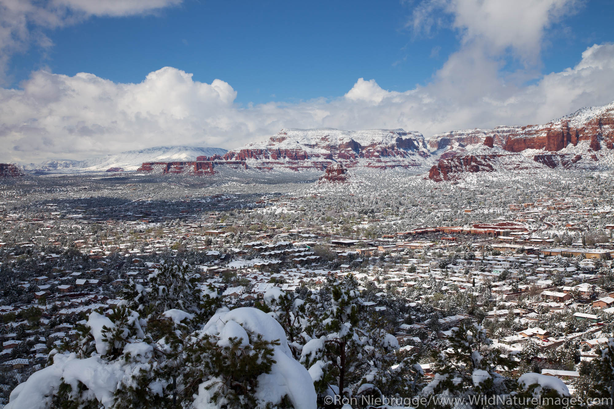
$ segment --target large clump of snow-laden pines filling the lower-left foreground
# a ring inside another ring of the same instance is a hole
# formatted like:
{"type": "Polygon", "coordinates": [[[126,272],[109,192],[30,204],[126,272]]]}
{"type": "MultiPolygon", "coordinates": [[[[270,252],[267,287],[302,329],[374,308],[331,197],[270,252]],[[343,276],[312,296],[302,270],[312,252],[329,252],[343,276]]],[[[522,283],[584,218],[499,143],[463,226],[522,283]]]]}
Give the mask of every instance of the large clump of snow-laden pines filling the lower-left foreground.
{"type": "Polygon", "coordinates": [[[314,409],[311,376],[278,322],[255,308],[211,317],[217,293],[191,278],[185,265],[163,267],[108,316],[93,311],[79,340],[53,351],[7,408],[314,409]]]}

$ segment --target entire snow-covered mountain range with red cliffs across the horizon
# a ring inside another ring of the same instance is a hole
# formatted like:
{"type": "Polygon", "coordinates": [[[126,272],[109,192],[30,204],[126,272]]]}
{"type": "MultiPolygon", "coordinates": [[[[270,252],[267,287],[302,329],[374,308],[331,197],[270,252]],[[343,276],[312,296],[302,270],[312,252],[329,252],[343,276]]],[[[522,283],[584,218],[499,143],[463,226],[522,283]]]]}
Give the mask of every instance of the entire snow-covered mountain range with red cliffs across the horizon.
{"type": "MultiPolygon", "coordinates": [[[[154,147],[88,160],[48,160],[25,168],[36,173],[141,171],[166,162],[167,173],[214,174],[216,166],[255,171],[324,171],[344,168],[409,169],[449,180],[464,172],[542,168],[614,168],[614,103],[585,107],[543,125],[457,130],[427,141],[418,131],[286,128],[233,150],[154,147]],[[208,161],[204,166],[171,162],[208,161]],[[141,165],[148,165],[142,166],[141,165]],[[198,169],[196,169],[198,168],[198,169]],[[202,172],[206,168],[206,172],[202,172]],[[190,170],[192,169],[192,170],[190,170]]],[[[223,168],[220,168],[223,169],[223,168]]],[[[163,172],[164,173],[164,172],[163,172]]]]}

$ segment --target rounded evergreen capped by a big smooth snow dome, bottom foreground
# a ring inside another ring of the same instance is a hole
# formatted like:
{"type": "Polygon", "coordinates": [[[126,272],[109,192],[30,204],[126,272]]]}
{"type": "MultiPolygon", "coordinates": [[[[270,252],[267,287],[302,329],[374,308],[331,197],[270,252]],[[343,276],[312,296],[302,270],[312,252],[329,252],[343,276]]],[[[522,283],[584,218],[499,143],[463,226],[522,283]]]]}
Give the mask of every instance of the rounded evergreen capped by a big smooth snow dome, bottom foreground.
{"type": "Polygon", "coordinates": [[[315,409],[309,372],[293,359],[286,333],[256,308],[220,309],[193,333],[186,390],[196,409],[315,409]]]}

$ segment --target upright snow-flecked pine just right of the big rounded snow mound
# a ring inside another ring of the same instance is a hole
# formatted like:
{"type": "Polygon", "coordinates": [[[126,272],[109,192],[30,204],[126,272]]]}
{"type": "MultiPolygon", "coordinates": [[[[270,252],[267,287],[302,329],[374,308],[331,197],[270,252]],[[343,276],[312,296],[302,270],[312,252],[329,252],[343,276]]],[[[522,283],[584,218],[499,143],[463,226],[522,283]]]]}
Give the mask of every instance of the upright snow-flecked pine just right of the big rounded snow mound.
{"type": "Polygon", "coordinates": [[[406,392],[405,381],[414,382],[420,370],[411,357],[406,361],[400,357],[403,365],[392,368],[398,363],[398,342],[384,330],[386,324],[367,310],[358,287],[349,275],[329,282],[326,290],[330,294],[324,300],[310,299],[317,306],[308,314],[305,331],[311,340],[303,346],[300,362],[309,368],[320,402],[330,393],[400,394],[406,392]]]}

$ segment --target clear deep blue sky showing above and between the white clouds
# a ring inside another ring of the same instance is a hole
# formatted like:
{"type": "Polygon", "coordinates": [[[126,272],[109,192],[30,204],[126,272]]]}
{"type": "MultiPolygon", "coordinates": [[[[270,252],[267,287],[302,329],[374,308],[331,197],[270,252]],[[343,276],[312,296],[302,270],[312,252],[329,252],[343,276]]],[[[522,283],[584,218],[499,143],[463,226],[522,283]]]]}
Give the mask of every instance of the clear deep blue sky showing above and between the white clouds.
{"type": "MultiPolygon", "coordinates": [[[[37,68],[141,82],[150,71],[173,66],[203,82],[225,80],[242,104],[340,96],[360,77],[405,91],[426,84],[459,49],[455,30],[414,34],[406,26],[416,4],[188,0],[150,15],[91,17],[47,30],[53,47],[15,55],[9,74],[14,86],[37,68]]],[[[554,24],[535,69],[560,71],[589,45],[612,41],[608,9],[610,1],[586,2],[554,24]]]]}

